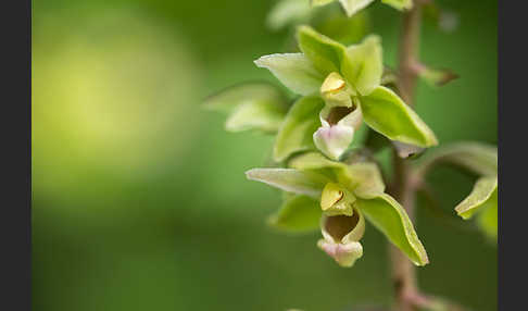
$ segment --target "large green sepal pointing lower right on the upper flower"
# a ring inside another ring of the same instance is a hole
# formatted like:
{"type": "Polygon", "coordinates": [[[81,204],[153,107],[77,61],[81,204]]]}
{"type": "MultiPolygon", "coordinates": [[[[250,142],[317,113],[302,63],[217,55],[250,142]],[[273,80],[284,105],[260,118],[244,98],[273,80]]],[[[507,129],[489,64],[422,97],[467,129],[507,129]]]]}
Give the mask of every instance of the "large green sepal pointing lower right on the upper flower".
{"type": "Polygon", "coordinates": [[[363,120],[389,139],[418,147],[438,144],[432,130],[392,90],[379,86],[360,100],[363,120]]]}

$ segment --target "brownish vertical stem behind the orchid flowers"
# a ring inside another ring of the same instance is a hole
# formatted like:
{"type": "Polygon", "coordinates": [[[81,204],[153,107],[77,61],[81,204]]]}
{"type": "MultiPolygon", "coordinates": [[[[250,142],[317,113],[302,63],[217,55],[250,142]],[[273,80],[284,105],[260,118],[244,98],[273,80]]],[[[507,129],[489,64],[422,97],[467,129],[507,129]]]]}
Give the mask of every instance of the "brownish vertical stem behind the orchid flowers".
{"type": "MultiPolygon", "coordinates": [[[[399,90],[403,100],[413,105],[416,87],[416,60],[418,54],[420,4],[414,1],[411,11],[403,15],[400,38],[399,58],[399,90]]],[[[411,181],[407,163],[393,151],[394,181],[390,187],[391,195],[405,208],[411,220],[414,219],[415,189],[411,181]]],[[[394,284],[395,309],[414,311],[416,303],[413,297],[418,297],[416,271],[413,263],[394,246],[390,246],[392,261],[392,277],[394,284]]]]}

